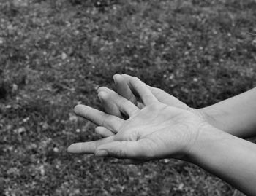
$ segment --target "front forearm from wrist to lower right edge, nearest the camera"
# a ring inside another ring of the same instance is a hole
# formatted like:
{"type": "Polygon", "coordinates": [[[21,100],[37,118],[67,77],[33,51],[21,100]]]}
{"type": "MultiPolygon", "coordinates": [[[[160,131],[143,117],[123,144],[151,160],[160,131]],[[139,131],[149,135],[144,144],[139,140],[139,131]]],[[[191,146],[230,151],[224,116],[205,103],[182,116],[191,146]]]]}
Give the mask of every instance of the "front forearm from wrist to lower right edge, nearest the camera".
{"type": "Polygon", "coordinates": [[[256,195],[256,145],[215,128],[211,132],[198,140],[190,152],[190,162],[241,192],[256,195]]]}

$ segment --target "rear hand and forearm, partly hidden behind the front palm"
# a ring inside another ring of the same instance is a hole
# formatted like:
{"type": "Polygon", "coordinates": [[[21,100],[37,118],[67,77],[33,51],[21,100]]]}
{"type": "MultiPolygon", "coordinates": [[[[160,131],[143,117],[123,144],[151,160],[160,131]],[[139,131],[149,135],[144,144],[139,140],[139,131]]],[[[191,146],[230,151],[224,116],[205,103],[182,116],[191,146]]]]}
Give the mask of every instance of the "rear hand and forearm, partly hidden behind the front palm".
{"type": "MultiPolygon", "coordinates": [[[[114,76],[116,93],[127,98],[139,108],[143,108],[143,103],[136,97],[138,94],[129,83],[131,78],[127,74],[116,74],[114,76]]],[[[173,95],[159,88],[148,86],[148,89],[151,90],[151,93],[154,94],[159,102],[181,109],[194,110],[197,115],[203,117],[206,122],[215,128],[241,138],[256,136],[256,88],[203,109],[192,109],[187,104],[173,97],[173,95]]],[[[121,111],[118,110],[114,99],[111,98],[113,91],[106,87],[100,87],[98,92],[102,91],[108,93],[109,96],[108,100],[102,102],[105,111],[108,114],[122,117],[121,111]]]]}

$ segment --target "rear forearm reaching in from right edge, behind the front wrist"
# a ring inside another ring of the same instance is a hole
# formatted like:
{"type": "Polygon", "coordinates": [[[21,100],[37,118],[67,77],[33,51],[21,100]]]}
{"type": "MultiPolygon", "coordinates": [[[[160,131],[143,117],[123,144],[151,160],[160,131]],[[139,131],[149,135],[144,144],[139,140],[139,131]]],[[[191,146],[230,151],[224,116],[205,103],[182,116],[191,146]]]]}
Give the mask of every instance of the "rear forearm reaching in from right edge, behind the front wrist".
{"type": "Polygon", "coordinates": [[[256,136],[256,88],[200,109],[215,128],[234,136],[256,136]]]}

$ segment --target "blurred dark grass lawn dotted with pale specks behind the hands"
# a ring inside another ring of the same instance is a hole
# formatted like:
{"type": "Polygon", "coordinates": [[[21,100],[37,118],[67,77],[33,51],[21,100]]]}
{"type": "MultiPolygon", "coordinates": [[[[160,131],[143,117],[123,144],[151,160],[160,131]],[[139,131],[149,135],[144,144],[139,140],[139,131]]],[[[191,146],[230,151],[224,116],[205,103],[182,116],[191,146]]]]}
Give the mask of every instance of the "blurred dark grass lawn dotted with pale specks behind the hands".
{"type": "Polygon", "coordinates": [[[0,195],[241,195],[178,160],[67,154],[127,73],[200,108],[256,86],[256,1],[0,0],[0,195]]]}

